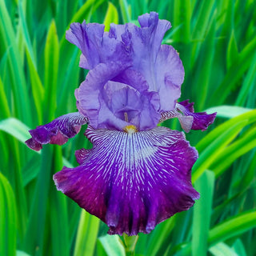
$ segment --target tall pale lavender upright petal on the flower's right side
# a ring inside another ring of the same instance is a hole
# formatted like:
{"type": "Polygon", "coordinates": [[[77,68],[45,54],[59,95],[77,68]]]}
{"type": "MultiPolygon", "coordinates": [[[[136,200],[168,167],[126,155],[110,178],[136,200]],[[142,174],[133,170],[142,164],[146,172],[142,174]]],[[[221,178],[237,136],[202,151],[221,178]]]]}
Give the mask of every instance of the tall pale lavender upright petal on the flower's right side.
{"type": "Polygon", "coordinates": [[[161,46],[166,30],[170,29],[170,22],[159,20],[158,14],[154,12],[144,14],[138,20],[142,28],[134,27],[134,31],[131,31],[133,68],[146,78],[149,90],[159,93],[161,110],[174,110],[181,94],[184,68],[172,46],[161,46]]]}

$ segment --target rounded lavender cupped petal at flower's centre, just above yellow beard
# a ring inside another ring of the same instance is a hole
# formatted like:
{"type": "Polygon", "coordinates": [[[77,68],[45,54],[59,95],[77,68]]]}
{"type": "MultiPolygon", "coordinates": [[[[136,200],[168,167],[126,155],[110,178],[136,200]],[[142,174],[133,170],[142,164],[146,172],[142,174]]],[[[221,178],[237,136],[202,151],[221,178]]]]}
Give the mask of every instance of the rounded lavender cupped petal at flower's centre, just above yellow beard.
{"type": "Polygon", "coordinates": [[[78,110],[89,118],[94,129],[122,130],[134,125],[147,130],[157,126],[158,93],[148,92],[142,75],[126,68],[121,62],[98,64],[75,91],[78,110]]]}

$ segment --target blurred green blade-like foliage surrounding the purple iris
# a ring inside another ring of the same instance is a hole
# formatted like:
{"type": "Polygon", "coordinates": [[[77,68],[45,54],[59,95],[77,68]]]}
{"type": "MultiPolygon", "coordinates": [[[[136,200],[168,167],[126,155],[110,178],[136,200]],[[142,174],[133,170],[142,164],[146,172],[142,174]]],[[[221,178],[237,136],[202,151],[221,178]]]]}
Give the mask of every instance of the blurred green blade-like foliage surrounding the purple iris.
{"type": "MultiPolygon", "coordinates": [[[[133,254],[54,187],[54,172],[76,166],[74,150],[90,146],[83,132],[39,154],[24,141],[27,130],[76,110],[73,92],[86,73],[65,39],[70,22],[107,29],[151,10],[172,23],[164,42],[185,66],[182,100],[218,118],[186,134],[200,154],[192,180],[201,199],[139,234],[134,254],[256,254],[254,0],[0,0],[0,255],[133,254]]],[[[164,125],[180,129],[175,120],[164,125]]]]}

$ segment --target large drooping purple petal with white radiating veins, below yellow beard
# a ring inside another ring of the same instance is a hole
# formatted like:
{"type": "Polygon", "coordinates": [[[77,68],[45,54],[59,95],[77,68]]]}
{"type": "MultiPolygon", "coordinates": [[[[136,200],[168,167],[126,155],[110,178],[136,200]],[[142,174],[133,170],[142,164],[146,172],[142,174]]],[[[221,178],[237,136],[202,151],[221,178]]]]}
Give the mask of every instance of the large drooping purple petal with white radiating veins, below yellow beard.
{"type": "Polygon", "coordinates": [[[190,170],[198,152],[184,134],[166,127],[142,132],[94,130],[91,150],[78,150],[81,166],[64,167],[54,182],[68,197],[110,227],[109,234],[151,230],[199,198],[190,170]]]}

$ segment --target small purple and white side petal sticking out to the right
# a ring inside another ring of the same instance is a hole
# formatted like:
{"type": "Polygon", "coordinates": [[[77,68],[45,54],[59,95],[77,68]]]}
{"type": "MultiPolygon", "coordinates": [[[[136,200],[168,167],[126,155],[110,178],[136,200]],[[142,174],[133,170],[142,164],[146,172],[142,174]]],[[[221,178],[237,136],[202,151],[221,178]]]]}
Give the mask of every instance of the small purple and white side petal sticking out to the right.
{"type": "Polygon", "coordinates": [[[194,102],[190,103],[189,100],[186,100],[176,103],[173,111],[163,112],[160,122],[170,118],[178,118],[182,129],[188,133],[191,129],[206,130],[214,122],[216,114],[194,113],[194,102]]]}

